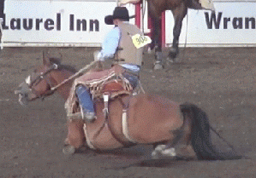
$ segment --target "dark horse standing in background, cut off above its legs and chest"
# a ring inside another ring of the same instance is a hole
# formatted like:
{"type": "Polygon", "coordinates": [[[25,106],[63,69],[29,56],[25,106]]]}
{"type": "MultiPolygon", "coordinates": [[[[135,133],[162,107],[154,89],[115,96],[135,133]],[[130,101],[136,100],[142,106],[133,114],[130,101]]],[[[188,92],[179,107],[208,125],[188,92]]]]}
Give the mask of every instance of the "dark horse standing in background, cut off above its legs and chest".
{"type": "MultiPolygon", "coordinates": [[[[126,3],[141,3],[141,0],[119,0],[119,5],[126,3]]],[[[176,61],[176,56],[179,54],[179,37],[182,31],[182,21],[188,14],[188,9],[208,9],[214,10],[212,1],[205,0],[147,0],[148,12],[152,18],[152,45],[151,49],[155,48],[155,65],[163,66],[162,41],[161,41],[161,17],[165,10],[171,10],[175,25],[173,27],[172,47],[167,60],[170,62],[176,61]]]]}

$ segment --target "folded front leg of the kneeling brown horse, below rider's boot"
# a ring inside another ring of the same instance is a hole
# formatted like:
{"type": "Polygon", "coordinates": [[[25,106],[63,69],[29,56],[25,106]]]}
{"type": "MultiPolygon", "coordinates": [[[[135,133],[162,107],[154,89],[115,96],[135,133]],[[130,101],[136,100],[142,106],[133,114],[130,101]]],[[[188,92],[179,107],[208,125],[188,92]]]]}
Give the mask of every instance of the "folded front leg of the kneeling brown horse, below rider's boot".
{"type": "Polygon", "coordinates": [[[79,148],[83,146],[86,140],[83,126],[84,121],[81,119],[68,120],[68,142],[69,146],[74,146],[74,148],[79,148]]]}

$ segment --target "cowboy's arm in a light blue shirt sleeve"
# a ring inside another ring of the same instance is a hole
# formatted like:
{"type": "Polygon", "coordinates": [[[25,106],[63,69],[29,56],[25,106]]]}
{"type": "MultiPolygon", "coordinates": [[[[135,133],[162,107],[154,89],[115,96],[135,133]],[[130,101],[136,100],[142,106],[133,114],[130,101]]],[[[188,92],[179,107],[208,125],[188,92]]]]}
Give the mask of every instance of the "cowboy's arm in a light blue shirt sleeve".
{"type": "Polygon", "coordinates": [[[118,27],[113,28],[102,43],[102,50],[98,54],[98,59],[104,60],[105,58],[113,58],[120,40],[120,29],[118,27]]]}

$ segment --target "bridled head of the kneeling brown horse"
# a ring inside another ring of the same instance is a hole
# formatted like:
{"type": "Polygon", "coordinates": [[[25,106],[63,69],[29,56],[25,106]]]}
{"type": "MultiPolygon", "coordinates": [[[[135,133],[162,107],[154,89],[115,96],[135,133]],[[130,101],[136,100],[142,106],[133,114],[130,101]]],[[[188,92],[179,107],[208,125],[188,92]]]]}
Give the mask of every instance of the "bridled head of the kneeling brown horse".
{"type": "Polygon", "coordinates": [[[27,105],[28,101],[44,98],[54,93],[52,87],[56,86],[57,83],[51,74],[57,70],[60,60],[45,57],[45,54],[43,56],[43,65],[36,67],[33,73],[15,91],[15,94],[19,95],[21,105],[27,105]]]}

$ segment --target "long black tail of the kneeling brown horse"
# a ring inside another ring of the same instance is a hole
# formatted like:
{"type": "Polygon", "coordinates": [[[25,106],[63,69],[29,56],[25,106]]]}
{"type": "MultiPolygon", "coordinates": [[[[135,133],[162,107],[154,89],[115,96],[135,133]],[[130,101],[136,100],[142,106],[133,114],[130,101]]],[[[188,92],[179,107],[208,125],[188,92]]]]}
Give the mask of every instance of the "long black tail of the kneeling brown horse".
{"type": "Polygon", "coordinates": [[[192,131],[191,141],[193,150],[199,160],[222,160],[225,159],[220,156],[211,144],[210,138],[210,123],[204,111],[193,104],[181,105],[182,112],[188,112],[192,116],[192,131]]]}

